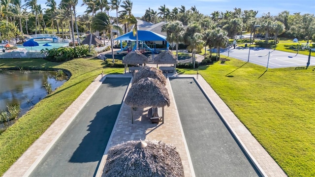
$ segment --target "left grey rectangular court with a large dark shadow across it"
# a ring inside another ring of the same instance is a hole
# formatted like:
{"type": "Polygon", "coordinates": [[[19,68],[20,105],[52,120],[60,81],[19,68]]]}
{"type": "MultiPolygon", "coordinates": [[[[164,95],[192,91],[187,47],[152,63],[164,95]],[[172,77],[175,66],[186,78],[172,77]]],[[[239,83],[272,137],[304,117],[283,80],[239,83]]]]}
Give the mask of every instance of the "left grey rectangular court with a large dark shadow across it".
{"type": "Polygon", "coordinates": [[[30,177],[95,176],[129,82],[106,79],[30,177]]]}

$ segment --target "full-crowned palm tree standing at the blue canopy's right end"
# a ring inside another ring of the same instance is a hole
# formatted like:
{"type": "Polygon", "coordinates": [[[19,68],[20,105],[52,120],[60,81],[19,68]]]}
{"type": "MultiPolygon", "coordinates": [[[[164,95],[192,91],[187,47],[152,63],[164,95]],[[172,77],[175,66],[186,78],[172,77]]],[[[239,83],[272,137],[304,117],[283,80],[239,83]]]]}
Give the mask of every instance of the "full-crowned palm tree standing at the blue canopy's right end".
{"type": "Polygon", "coordinates": [[[162,26],[162,31],[166,32],[166,40],[176,42],[176,57],[178,59],[178,45],[183,41],[184,26],[180,21],[174,21],[162,26]]]}

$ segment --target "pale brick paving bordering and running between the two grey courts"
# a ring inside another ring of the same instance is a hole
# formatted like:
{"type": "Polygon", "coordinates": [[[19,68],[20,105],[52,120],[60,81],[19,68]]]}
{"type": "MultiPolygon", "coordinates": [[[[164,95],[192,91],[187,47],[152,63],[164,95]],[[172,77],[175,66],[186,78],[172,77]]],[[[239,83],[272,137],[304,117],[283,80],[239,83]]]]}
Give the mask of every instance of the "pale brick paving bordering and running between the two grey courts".
{"type": "MultiPolygon", "coordinates": [[[[131,75],[110,75],[110,77],[131,77],[131,75]]],[[[196,75],[174,75],[173,77],[196,77],[196,75]]],[[[48,150],[62,135],[63,131],[92,97],[101,85],[103,79],[99,75],[95,81],[92,82],[92,84],[68,107],[68,109],[65,110],[60,118],[58,118],[47,129],[47,131],[45,131],[44,134],[36,140],[32,146],[10,167],[3,177],[29,176],[48,150]]],[[[261,171],[262,175],[269,177],[286,177],[284,171],[273,160],[268,152],[256,141],[240,120],[236,118],[217,93],[207,84],[207,82],[200,75],[196,81],[204,90],[211,102],[215,105],[217,111],[221,114],[221,117],[224,119],[227,126],[234,133],[234,136],[239,143],[243,145],[246,153],[252,158],[252,161],[256,164],[256,167],[259,171],[261,171]]],[[[102,176],[102,168],[106,163],[106,152],[108,148],[126,141],[140,139],[160,140],[164,143],[173,144],[182,158],[185,177],[195,176],[169,81],[167,82],[166,87],[169,91],[171,104],[169,107],[165,107],[164,109],[164,123],[151,123],[150,119],[147,118],[148,108],[144,108],[133,111],[134,123],[131,124],[131,109],[123,102],[109,143],[106,147],[102,161],[100,162],[96,175],[97,177],[102,176]]]]}

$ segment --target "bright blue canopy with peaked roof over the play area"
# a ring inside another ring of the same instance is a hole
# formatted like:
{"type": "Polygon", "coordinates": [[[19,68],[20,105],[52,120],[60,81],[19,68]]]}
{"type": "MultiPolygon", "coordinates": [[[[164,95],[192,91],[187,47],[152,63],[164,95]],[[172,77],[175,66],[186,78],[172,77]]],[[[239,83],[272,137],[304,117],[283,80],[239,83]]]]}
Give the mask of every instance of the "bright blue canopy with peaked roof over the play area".
{"type": "MultiPolygon", "coordinates": [[[[121,40],[121,49],[123,50],[123,46],[122,46],[122,40],[126,40],[126,41],[135,41],[136,40],[136,35],[133,35],[133,32],[128,32],[124,35],[121,35],[119,37],[117,37],[114,40],[121,40]]],[[[166,41],[166,36],[163,36],[161,34],[158,34],[156,32],[153,31],[149,31],[149,30],[138,30],[138,40],[139,41],[166,41]]],[[[166,41],[166,48],[168,49],[169,44],[166,41]]]]}

